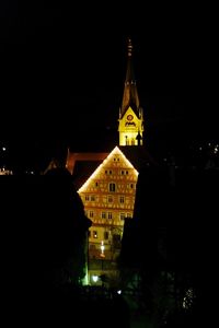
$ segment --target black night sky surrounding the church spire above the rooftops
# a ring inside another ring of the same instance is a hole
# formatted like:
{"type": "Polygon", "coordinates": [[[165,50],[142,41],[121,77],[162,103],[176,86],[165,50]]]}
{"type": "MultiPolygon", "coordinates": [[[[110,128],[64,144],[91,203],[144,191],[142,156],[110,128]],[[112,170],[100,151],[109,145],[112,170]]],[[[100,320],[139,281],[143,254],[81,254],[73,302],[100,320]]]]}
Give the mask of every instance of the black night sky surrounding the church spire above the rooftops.
{"type": "Polygon", "coordinates": [[[132,5],[1,1],[1,140],[116,130],[129,35],[148,140],[218,138],[214,9],[132,5]]]}

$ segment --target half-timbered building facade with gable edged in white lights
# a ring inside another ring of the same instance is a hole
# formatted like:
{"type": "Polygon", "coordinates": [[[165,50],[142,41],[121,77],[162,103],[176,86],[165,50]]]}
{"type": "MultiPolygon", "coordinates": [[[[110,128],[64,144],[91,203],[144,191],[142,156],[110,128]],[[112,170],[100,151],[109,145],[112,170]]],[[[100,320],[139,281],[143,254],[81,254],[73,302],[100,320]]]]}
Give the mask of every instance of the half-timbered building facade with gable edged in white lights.
{"type": "Polygon", "coordinates": [[[114,263],[119,256],[124,222],[132,218],[137,179],[138,172],[115,147],[78,190],[92,221],[88,254],[90,283],[93,277],[102,274],[116,279],[114,263]]]}

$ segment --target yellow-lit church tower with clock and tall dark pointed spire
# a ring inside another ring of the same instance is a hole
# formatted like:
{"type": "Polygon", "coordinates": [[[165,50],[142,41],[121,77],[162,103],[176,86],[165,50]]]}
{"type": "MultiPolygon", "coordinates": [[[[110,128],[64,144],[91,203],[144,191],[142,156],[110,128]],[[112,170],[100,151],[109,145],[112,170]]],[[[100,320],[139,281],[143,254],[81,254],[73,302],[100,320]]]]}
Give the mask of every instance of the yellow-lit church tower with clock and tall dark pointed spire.
{"type": "Polygon", "coordinates": [[[138,91],[132,68],[132,44],[128,39],[127,71],[122,107],[119,108],[119,145],[142,145],[143,112],[139,105],[138,91]]]}

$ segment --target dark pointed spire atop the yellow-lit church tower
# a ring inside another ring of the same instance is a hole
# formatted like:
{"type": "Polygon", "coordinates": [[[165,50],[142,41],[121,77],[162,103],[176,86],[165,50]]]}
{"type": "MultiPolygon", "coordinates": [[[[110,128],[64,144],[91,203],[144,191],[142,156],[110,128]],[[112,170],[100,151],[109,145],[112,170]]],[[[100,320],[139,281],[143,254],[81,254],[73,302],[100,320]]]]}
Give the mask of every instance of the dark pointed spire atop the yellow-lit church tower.
{"type": "Polygon", "coordinates": [[[138,116],[139,112],[139,98],[138,98],[138,91],[136,86],[136,79],[134,74],[132,68],[132,43],[131,39],[128,38],[128,60],[127,60],[127,71],[126,71],[126,80],[124,86],[124,95],[123,95],[123,103],[122,103],[122,117],[125,114],[126,109],[131,106],[131,108],[136,112],[138,116]]]}

